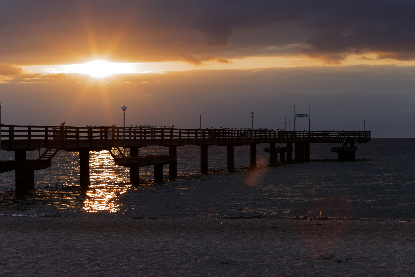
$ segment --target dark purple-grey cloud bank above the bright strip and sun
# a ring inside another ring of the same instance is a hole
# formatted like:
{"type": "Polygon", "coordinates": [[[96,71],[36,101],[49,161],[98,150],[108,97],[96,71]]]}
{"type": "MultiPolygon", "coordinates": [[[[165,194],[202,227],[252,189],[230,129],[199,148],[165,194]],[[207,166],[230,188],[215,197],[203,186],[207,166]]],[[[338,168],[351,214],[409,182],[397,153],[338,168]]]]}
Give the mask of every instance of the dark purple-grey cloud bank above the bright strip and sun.
{"type": "Polygon", "coordinates": [[[415,59],[415,2],[2,1],[0,61],[28,64],[187,61],[303,54],[415,59]],[[295,47],[293,47],[293,45],[295,47]]]}

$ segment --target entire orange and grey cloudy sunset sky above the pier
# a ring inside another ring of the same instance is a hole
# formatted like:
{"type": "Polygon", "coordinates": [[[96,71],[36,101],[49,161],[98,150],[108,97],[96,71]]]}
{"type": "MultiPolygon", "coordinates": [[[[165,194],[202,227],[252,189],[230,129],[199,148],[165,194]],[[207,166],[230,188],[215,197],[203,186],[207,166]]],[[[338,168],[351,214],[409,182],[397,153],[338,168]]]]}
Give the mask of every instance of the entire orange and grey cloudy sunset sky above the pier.
{"type": "Polygon", "coordinates": [[[2,123],[415,137],[413,1],[0,0],[2,123]],[[288,127],[288,126],[287,126],[288,127]],[[297,130],[308,129],[299,119],[297,130]]]}

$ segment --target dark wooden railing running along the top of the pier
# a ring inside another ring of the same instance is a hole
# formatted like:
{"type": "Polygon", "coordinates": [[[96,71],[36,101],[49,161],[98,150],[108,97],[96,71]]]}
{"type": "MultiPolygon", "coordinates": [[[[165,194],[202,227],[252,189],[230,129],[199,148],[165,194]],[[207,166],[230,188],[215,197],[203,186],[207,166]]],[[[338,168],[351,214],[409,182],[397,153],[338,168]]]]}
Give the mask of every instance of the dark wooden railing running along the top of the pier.
{"type": "Polygon", "coordinates": [[[2,140],[96,139],[207,139],[207,138],[315,138],[357,137],[370,140],[370,131],[281,131],[229,129],[176,129],[151,127],[72,127],[1,125],[2,140]]]}

